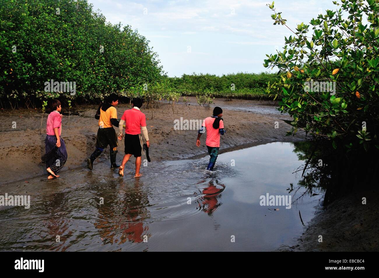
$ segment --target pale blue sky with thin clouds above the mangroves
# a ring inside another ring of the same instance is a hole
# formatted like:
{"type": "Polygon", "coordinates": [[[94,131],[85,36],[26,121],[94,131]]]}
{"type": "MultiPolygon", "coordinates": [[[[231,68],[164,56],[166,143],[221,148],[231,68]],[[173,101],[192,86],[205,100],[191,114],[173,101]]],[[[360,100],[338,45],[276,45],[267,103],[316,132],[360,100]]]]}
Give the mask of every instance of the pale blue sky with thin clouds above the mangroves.
{"type": "MultiPolygon", "coordinates": [[[[193,72],[229,74],[268,71],[266,54],[284,46],[292,33],[273,25],[265,0],[89,0],[112,24],[130,25],[149,40],[163,71],[170,77],[193,72]]],[[[287,25],[335,9],[332,0],[275,1],[287,25]]]]}

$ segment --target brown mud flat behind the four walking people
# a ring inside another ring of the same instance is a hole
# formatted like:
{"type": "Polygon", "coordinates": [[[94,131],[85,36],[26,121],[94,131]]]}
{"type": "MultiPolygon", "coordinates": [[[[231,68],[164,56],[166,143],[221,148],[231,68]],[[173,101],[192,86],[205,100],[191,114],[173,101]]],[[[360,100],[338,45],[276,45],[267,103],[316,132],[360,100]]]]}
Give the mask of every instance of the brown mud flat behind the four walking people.
{"type": "MultiPolygon", "coordinates": [[[[280,114],[269,102],[215,99],[211,107],[199,107],[195,97],[187,97],[189,103],[161,103],[154,110],[141,108],[147,117],[150,139],[150,157],[154,161],[178,160],[205,155],[205,137],[200,148],[196,147],[197,130],[176,130],[174,121],[201,120],[212,115],[213,107],[223,108],[226,134],[221,139],[220,152],[270,141],[299,141],[304,137],[286,136],[290,126],[283,120],[288,115],[280,114]],[[275,128],[275,122],[278,127],[275,128]]],[[[120,119],[130,105],[117,106],[120,119]]],[[[97,105],[74,107],[68,120],[68,108],[63,107],[62,138],[66,143],[68,159],[63,170],[85,167],[85,160],[95,148],[97,120],[94,118],[97,105]]],[[[47,114],[42,120],[41,110],[5,110],[0,112],[0,184],[18,181],[32,176],[45,175],[41,155],[45,152],[44,140],[47,114]],[[16,123],[16,128],[14,123],[16,123]]],[[[119,141],[117,162],[124,153],[124,141],[119,141]]],[[[100,160],[109,160],[109,150],[100,155],[100,160]]],[[[96,162],[95,162],[96,163],[96,162]]]]}

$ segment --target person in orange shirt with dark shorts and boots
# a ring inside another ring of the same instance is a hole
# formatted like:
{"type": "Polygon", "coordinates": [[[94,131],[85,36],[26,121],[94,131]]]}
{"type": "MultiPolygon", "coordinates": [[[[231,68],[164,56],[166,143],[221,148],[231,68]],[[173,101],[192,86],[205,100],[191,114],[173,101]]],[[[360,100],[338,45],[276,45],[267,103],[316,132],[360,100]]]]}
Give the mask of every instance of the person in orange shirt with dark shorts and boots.
{"type": "Polygon", "coordinates": [[[95,119],[99,120],[99,129],[97,130],[96,149],[91,154],[91,157],[87,159],[87,167],[89,170],[92,170],[94,160],[108,145],[110,146],[111,169],[119,167],[116,165],[117,135],[113,128],[113,126],[119,127],[115,107],[117,104],[118,96],[116,94],[111,94],[107,98],[107,101],[100,104],[97,109],[95,119]]]}

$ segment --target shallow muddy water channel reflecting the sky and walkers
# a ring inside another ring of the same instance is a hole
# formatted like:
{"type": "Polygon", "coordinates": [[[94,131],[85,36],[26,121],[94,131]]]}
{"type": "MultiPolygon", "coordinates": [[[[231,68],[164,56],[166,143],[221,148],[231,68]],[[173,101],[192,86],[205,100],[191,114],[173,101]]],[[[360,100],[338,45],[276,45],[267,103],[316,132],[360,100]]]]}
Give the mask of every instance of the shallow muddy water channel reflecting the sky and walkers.
{"type": "Polygon", "coordinates": [[[227,152],[213,172],[204,170],[208,157],[151,162],[140,179],[132,177],[131,162],[123,178],[108,163],[95,163],[92,172],[67,170],[52,181],[38,177],[1,185],[0,195],[30,195],[31,206],[0,207],[0,250],[286,248],[303,232],[299,210],[304,223],[310,221],[321,196],[301,197],[306,189],[292,172],[302,162],[293,149],[293,143],[276,142],[227,152]],[[291,195],[291,209],[260,206],[266,193],[291,195]]]}

